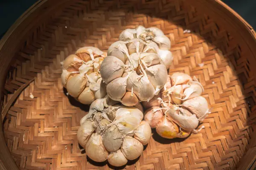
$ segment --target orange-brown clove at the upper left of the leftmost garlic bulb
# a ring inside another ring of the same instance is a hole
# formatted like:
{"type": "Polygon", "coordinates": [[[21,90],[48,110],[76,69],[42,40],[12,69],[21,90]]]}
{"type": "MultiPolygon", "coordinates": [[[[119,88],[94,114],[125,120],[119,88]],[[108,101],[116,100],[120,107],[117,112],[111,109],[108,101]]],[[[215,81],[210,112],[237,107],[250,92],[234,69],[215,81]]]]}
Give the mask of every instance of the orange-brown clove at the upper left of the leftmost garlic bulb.
{"type": "Polygon", "coordinates": [[[83,61],[78,56],[71,54],[62,62],[62,68],[67,71],[79,71],[82,64],[83,61]]]}

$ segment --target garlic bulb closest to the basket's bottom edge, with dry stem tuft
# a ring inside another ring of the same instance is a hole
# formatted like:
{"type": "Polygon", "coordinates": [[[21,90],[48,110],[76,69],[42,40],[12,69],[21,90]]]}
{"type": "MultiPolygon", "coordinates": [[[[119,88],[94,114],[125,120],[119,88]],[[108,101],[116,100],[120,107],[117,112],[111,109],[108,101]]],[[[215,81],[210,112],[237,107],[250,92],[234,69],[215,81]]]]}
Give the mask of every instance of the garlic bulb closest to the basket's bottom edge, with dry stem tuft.
{"type": "Polygon", "coordinates": [[[90,159],[108,160],[117,167],[137,159],[151,138],[151,127],[143,121],[143,112],[118,103],[108,96],[96,99],[77,132],[78,142],[90,159]]]}

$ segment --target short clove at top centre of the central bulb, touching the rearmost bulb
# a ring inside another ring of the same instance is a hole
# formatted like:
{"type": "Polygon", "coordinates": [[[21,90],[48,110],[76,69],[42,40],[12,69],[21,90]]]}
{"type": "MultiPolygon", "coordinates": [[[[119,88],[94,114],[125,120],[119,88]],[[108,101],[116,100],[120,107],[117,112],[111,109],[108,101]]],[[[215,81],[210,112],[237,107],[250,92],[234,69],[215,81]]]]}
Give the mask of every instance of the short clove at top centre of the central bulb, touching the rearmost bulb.
{"type": "Polygon", "coordinates": [[[134,38],[127,41],[127,48],[129,54],[133,53],[141,53],[143,51],[145,42],[143,40],[140,40],[139,38],[134,38]]]}

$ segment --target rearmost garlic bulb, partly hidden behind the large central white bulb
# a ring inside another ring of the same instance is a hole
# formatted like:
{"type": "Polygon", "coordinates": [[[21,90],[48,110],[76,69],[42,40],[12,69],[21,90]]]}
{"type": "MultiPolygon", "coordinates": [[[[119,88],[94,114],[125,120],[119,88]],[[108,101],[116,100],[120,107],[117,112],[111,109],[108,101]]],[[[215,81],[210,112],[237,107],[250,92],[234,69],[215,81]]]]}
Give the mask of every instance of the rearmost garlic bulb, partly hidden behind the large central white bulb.
{"type": "Polygon", "coordinates": [[[173,60],[172,52],[169,51],[171,41],[163,34],[163,31],[156,27],[145,28],[138,26],[135,29],[125,29],[119,35],[120,41],[128,41],[134,38],[140,38],[144,42],[147,42],[148,45],[153,46],[166,68],[170,68],[173,60]]]}

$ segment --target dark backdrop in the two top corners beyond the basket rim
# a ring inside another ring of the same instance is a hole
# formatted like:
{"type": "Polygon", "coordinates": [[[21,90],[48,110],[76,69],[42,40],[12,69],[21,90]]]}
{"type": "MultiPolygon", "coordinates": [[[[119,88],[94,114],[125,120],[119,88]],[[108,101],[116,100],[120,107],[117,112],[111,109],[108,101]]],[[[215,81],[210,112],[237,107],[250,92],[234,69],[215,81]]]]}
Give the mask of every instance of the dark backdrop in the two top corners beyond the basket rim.
{"type": "MultiPolygon", "coordinates": [[[[0,0],[0,38],[37,0],[0,0]]],[[[256,0],[222,0],[256,28],[256,0]]]]}

